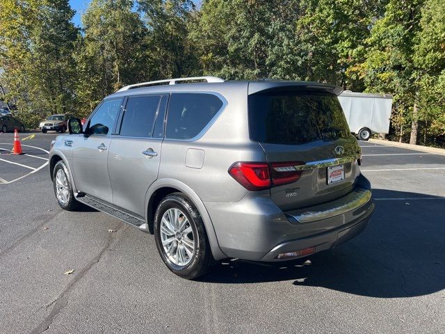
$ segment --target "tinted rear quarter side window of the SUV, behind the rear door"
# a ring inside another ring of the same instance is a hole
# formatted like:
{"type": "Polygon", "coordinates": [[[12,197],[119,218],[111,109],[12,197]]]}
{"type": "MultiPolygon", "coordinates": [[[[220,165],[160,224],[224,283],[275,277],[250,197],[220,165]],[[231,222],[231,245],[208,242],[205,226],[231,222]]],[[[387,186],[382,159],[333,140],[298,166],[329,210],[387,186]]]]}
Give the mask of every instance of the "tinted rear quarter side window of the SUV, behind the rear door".
{"type": "Polygon", "coordinates": [[[191,139],[199,134],[223,106],[216,95],[174,93],[170,97],[165,138],[191,139]]]}

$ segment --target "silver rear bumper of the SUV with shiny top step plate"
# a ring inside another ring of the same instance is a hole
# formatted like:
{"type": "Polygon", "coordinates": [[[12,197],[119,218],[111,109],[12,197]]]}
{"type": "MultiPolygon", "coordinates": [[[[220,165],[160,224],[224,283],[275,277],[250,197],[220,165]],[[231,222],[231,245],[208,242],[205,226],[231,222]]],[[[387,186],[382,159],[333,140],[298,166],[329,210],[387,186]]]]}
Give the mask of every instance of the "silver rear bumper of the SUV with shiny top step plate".
{"type": "Polygon", "coordinates": [[[352,193],[291,212],[282,212],[268,193],[250,193],[236,203],[204,205],[223,253],[253,261],[282,261],[276,259],[280,253],[309,247],[316,252],[333,248],[362,232],[374,209],[371,184],[363,175],[352,193]]]}

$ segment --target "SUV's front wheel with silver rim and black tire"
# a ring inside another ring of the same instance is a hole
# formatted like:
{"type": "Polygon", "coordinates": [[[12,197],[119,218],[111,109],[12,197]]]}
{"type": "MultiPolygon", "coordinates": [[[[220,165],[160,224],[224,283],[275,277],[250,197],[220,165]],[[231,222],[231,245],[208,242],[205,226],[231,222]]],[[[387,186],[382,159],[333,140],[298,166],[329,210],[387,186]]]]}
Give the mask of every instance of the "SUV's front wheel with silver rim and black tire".
{"type": "Polygon", "coordinates": [[[79,207],[79,202],[74,198],[72,185],[67,167],[63,161],[58,161],[53,171],[54,193],[58,205],[67,211],[73,211],[79,207]]]}

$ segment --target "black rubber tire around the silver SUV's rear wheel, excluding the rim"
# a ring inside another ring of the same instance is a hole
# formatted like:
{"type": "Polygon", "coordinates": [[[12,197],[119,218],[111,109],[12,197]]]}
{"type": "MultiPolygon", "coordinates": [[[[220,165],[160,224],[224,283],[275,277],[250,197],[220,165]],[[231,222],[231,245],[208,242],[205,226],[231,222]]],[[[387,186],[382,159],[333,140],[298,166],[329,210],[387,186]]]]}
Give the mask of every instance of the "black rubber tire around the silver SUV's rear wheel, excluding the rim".
{"type": "Polygon", "coordinates": [[[165,265],[175,273],[177,276],[193,280],[198,278],[209,270],[211,265],[215,262],[209,245],[209,239],[207,238],[207,232],[204,228],[204,223],[197,211],[195,205],[189,200],[183,193],[172,193],[165,196],[159,203],[154,214],[154,238],[156,240],[156,247],[158,248],[159,255],[165,263],[165,265]],[[189,257],[190,262],[184,266],[175,264],[170,260],[165,253],[165,249],[161,241],[161,219],[163,214],[168,209],[176,208],[181,210],[188,219],[188,223],[193,230],[193,241],[195,241],[193,256],[189,257]],[[195,237],[197,236],[197,237],[195,237]],[[196,242],[197,241],[197,242],[196,242]]]}

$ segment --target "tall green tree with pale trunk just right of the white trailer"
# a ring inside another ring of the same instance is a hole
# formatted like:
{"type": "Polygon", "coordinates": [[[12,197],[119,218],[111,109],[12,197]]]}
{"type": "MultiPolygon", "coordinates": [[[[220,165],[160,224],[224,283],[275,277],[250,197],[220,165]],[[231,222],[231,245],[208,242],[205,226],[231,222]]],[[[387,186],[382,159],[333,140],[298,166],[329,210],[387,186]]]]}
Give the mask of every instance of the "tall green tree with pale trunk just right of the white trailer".
{"type": "Polygon", "coordinates": [[[390,0],[385,15],[373,25],[366,40],[362,65],[366,89],[393,93],[398,138],[405,135],[405,119],[412,122],[410,143],[416,143],[419,112],[419,77],[413,61],[423,0],[390,0]]]}

